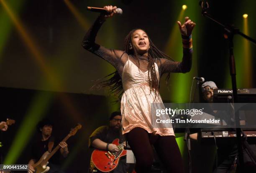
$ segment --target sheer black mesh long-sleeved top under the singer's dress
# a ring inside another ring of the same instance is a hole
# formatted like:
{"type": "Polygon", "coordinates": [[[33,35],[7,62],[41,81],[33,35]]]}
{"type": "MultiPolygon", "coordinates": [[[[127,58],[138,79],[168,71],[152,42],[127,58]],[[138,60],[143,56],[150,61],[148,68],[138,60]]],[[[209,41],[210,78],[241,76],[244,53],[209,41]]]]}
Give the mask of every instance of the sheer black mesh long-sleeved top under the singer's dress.
{"type": "MultiPolygon", "coordinates": [[[[122,78],[123,67],[128,60],[128,54],[123,50],[113,50],[105,48],[101,45],[95,43],[95,38],[97,32],[99,31],[102,23],[100,18],[97,18],[92,27],[88,30],[84,39],[82,41],[82,46],[84,49],[94,53],[100,58],[108,61],[112,64],[118,71],[120,77],[122,78]]],[[[182,37],[183,40],[189,40],[191,37],[182,37]]],[[[140,64],[138,65],[138,61],[133,57],[133,55],[129,55],[129,59],[143,72],[148,70],[148,60],[145,56],[139,57],[140,64]]],[[[183,48],[183,58],[181,62],[168,60],[166,58],[156,58],[155,63],[159,68],[159,76],[164,73],[187,73],[190,71],[192,66],[192,49],[183,48]]]]}

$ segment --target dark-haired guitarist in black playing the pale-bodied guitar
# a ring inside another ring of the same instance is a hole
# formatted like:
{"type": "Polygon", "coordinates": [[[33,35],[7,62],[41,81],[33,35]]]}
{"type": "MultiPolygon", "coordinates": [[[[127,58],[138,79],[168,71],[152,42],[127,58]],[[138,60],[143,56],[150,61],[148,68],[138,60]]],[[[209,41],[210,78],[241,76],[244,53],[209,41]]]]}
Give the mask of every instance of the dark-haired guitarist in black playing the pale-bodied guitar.
{"type": "Polygon", "coordinates": [[[49,164],[47,166],[50,167],[50,170],[47,173],[64,173],[60,169],[60,161],[61,159],[66,158],[69,153],[67,143],[59,143],[60,140],[57,140],[54,138],[54,136],[51,135],[53,130],[53,123],[49,119],[42,120],[38,124],[38,130],[40,130],[41,135],[39,138],[37,138],[32,146],[32,158],[28,163],[28,173],[33,173],[35,170],[32,165],[36,163],[46,151],[51,152],[51,150],[53,150],[58,144],[61,148],[49,160],[49,164]]]}

